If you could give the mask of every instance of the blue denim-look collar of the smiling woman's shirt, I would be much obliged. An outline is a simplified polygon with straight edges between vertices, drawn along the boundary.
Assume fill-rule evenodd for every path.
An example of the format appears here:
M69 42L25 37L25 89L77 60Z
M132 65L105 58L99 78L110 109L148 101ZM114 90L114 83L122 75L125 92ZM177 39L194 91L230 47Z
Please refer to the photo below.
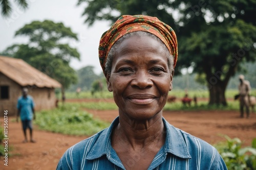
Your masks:
M109 159L111 156L114 156L111 155L111 152L114 151L111 146L111 133L113 128L117 126L118 123L119 117L115 118L109 128L101 132L91 151L89 151L86 159L93 160L103 155L106 155L106 157ZM163 123L166 128L164 152L173 154L180 158L191 158L185 139L180 130L170 125L164 118Z

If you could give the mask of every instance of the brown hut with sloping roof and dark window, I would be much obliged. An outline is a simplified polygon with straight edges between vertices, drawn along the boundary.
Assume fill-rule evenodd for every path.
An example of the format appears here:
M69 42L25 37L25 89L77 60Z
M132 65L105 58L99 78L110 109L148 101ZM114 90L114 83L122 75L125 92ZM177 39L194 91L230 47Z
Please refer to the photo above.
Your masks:
M35 102L35 110L55 107L55 88L61 84L22 59L0 56L0 116L17 114L17 99L27 87Z

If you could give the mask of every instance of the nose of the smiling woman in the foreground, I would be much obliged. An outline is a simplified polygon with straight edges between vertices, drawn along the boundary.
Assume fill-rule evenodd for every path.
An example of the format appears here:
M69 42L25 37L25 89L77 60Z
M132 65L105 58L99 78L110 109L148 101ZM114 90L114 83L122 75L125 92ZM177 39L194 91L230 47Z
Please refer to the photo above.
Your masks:
M140 89L152 87L153 82L150 78L150 73L148 71L137 71L131 85Z

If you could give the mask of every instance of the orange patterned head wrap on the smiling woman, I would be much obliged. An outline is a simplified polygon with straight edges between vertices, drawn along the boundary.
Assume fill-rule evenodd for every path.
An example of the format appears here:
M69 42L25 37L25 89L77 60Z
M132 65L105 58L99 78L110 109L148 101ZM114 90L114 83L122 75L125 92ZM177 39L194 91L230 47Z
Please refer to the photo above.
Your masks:
M149 32L157 36L174 56L174 67L178 58L178 44L174 30L157 17L145 15L123 15L101 36L99 42L99 61L103 72L109 51L123 35L135 31Z

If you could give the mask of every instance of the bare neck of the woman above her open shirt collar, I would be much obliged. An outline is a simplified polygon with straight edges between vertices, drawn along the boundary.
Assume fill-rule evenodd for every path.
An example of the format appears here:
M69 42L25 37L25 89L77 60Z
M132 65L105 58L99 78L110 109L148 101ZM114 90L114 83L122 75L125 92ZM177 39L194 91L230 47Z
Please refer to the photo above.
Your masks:
M133 149L144 148L149 145L163 145L165 130L162 114L151 119L135 120L126 115L119 116L119 124L115 128L113 138L116 142L130 145Z

